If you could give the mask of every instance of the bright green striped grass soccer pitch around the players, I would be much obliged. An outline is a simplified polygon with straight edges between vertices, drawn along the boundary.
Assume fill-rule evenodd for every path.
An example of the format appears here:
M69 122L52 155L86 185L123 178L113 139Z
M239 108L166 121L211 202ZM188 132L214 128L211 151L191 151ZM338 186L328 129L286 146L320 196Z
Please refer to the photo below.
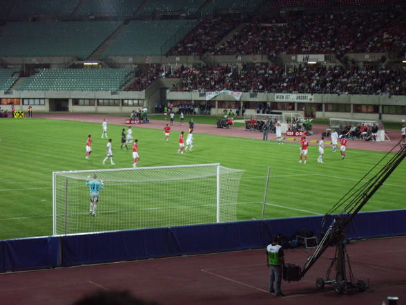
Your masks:
M101 139L101 124L36 118L0 119L0 239L52 234L52 172L131 167L131 150L120 150L122 128L124 126L108 126L108 136L113 139L115 149L115 165L109 161L102 165L107 141ZM93 139L90 160L85 159L88 134ZM339 151L333 153L327 147L325 163L318 163L318 147L312 145L307 164L299 164L299 145L289 142L278 145L274 141L197 132L193 151L181 155L177 154L177 131L171 132L169 142L165 141L161 129L133 128L133 136L139 140L139 167L220 163L224 167L244 169L238 192L240 221L261 218L268 167L270 178L264 218L313 216L329 211L386 155L348 149L345 160L341 160ZM385 163L384 160L371 174ZM402 163L361 212L404 208L405 169L406 164ZM369 178L366 177L365 182ZM178 196L182 198L183 194ZM99 213L103 210L103 201L101 193ZM88 212L88 201L83 208ZM101 217L97 221L102 221Z

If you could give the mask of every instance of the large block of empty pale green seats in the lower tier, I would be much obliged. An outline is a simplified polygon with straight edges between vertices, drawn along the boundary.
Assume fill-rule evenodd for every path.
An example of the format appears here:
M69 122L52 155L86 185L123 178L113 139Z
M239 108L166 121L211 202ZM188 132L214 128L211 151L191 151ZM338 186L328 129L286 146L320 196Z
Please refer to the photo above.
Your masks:
M19 86L19 91L117 91L131 69L40 69Z

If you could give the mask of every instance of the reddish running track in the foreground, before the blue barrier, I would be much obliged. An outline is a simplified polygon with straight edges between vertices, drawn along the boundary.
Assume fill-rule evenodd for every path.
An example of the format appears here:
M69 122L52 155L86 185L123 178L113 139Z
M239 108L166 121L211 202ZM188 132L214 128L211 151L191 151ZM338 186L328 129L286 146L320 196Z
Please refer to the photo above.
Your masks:
M300 281L282 282L283 298L267 292L269 269L260 249L3 273L0 300L3 305L68 305L97 290L118 289L162 305L380 305L388 296L406 304L406 237L347 246L356 281L369 281L365 293L337 295L333 286L316 288L334 251L329 248ZM285 250L287 263L303 266L308 253L305 248Z

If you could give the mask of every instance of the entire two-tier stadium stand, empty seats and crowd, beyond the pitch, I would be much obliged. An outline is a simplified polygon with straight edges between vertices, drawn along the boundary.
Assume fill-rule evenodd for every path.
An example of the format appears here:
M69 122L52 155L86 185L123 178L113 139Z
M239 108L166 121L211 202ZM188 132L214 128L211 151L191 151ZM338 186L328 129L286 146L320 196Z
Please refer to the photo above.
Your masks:
M131 91L144 91L161 78L159 84L168 92L226 89L319 97L398 95L404 100L406 18L401 0L6 2L0 6L0 68L16 68L21 79L6 76L8 96L3 98L14 91L125 90L126 96L133 94L151 106L155 101ZM320 60L311 66L305 60L309 55L320 55L313 57ZM132 73L131 79L117 76L125 82L117 82L116 76L106 80L103 72L87 74L88 80L79 83L70 80L65 70L83 80L77 68L85 62L106 71L145 73L139 78ZM75 69L65 69L69 67ZM177 80L164 80L169 77ZM244 98L242 103L251 95Z

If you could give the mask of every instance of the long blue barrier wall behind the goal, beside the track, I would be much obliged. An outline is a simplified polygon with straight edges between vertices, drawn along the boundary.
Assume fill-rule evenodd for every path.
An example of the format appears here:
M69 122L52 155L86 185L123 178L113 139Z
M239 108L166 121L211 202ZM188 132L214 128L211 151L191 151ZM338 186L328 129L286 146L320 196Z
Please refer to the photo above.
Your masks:
M406 234L406 210L363 212L346 228L349 239ZM0 272L264 248L282 233L318 232L322 216L189 225L0 241Z

